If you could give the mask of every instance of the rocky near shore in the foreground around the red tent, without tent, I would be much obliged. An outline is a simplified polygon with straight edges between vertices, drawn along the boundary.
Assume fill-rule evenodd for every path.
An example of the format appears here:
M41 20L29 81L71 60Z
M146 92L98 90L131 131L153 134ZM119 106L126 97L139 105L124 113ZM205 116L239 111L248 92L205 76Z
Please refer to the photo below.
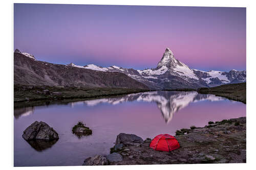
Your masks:
M89 157L83 165L246 163L246 117L181 129L175 137L180 148L161 152L149 147L149 138L121 133L110 155Z

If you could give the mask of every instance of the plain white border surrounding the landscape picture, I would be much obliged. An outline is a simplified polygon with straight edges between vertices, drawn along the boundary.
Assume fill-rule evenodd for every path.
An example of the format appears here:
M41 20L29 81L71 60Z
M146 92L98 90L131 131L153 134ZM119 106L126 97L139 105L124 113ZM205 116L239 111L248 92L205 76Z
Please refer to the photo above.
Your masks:
M255 109L253 108L255 96L255 39L256 8L254 1L205 1L205 0L183 0L183 1L2 1L1 11L1 166L2 168L13 168L13 3L42 3L42 4L101 4L101 5L157 5L157 6L204 6L204 7L246 7L247 8L247 163L241 164L186 164L186 165L133 165L133 166L53 166L53 167L20 167L27 168L48 168L48 169L130 169L130 168L177 168L177 169L250 169L255 160ZM80 159L80 158L78 158Z

